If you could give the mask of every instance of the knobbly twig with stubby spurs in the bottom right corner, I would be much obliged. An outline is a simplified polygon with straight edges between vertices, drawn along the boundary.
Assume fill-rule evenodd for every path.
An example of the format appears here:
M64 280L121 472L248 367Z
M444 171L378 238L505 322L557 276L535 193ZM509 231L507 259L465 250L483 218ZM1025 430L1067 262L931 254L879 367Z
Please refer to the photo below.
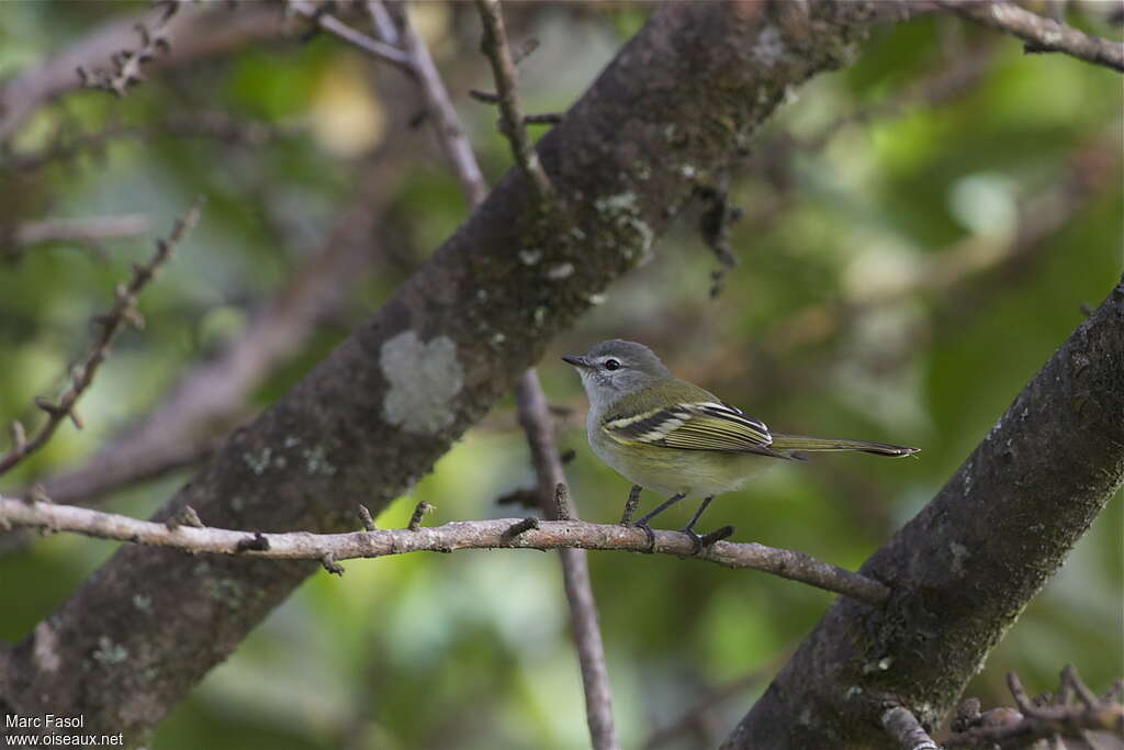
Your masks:
M1028 698L1014 672L1007 675L1007 686L1017 711L999 707L980 713L979 702L969 698L962 704L961 716L953 725L955 731L945 740L945 747L1023 748L1035 740L1080 738L1089 731L1124 737L1121 680L1097 696L1081 681L1077 670L1067 666L1061 671L1059 689L1049 702Z

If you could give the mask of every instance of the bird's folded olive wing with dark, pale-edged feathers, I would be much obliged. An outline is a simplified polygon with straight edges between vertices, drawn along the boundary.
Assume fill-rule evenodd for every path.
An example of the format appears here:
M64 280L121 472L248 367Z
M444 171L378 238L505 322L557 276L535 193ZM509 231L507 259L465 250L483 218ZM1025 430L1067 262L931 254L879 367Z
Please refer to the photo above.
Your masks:
M769 448L772 436L763 422L723 404L710 392L683 381L676 383L676 404L659 406L645 389L607 409L601 430L622 443L646 443L688 451L762 453L785 458ZM686 398L685 398L686 397Z

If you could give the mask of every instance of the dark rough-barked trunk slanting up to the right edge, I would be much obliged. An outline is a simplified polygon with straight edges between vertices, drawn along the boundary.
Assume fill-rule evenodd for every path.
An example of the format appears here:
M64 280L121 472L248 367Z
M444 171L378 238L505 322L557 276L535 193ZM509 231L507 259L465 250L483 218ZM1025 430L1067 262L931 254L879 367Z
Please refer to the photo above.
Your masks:
M863 564L887 605L836 602L723 747L894 748L887 702L932 730L1122 481L1124 279Z

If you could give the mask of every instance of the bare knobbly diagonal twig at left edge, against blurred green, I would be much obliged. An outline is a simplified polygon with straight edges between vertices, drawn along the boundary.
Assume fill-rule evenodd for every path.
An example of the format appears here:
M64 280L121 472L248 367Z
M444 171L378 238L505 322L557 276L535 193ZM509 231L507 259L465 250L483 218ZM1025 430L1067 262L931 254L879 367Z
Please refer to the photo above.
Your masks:
M133 266L133 279L128 284L118 284L115 291L114 307L97 318L99 333L93 342L93 346L85 359L71 371L71 382L57 403L47 399L36 399L36 406L46 412L47 419L39 427L35 435L28 437L21 444L12 445L11 450L0 457L0 475L7 472L13 466L22 461L33 452L42 448L54 434L58 425L71 419L75 426L81 427L81 421L74 410L78 399L82 396L90 383L98 367L109 355L109 347L117 338L126 323L132 323L139 327L143 318L136 310L136 296L144 289L145 284L152 280L156 270L171 256L172 250L183 240L184 235L196 225L199 213L202 208L201 199L197 199L188 211L175 222L172 233L167 240L156 242L156 253L143 265Z

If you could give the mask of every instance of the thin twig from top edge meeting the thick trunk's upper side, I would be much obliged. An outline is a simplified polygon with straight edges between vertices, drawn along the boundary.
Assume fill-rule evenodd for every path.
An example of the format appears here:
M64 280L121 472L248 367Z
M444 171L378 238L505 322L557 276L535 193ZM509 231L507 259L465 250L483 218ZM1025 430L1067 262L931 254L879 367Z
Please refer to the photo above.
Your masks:
M546 177L546 171L538 161L538 154L532 147L523 125L519 93L515 85L515 63L511 62L511 53L507 46L507 31L504 28L499 0L477 0L477 8L480 10L480 20L484 27L480 48L491 63L492 75L496 79L496 90L499 96L497 103L504 124L504 135L511 142L515 161L535 187L540 200L549 201L554 197L554 186Z

